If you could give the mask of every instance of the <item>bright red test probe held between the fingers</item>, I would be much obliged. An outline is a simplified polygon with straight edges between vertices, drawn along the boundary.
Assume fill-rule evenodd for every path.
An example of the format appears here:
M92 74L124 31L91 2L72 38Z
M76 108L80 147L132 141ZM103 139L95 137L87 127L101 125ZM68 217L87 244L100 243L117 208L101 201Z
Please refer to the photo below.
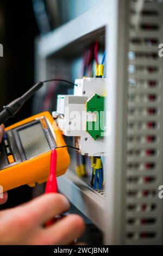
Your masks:
M57 177L57 150L53 149L51 153L51 165L49 170L49 176L46 182L45 194L46 193L58 193ZM46 227L52 225L54 220L50 220L46 223Z

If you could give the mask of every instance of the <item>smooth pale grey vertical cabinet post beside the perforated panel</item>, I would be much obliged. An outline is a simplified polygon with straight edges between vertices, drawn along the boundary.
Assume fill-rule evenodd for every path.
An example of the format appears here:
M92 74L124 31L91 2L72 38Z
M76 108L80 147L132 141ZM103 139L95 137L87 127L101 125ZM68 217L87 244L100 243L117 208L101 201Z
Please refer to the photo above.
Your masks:
M126 190L126 119L128 65L128 9L129 1L112 1L110 22L106 31L109 58L107 59L106 110L111 113L111 132L106 141L106 234L105 243L124 243L124 191ZM114 29L112 29L114 28Z

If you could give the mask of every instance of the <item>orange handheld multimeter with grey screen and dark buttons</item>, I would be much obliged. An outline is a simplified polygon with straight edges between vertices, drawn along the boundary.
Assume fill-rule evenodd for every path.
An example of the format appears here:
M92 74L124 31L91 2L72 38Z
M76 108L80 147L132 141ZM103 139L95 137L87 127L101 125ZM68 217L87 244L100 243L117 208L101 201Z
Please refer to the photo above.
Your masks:
M66 145L52 115L42 112L5 129L0 144L0 185L3 191L45 182L51 151ZM67 148L57 149L57 176L70 164Z

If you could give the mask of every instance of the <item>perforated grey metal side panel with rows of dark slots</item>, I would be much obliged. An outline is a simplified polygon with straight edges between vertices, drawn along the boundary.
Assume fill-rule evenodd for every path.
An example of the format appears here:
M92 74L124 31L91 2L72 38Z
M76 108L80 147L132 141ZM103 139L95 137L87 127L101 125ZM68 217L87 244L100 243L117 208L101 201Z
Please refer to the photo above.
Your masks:
M130 1L126 244L162 244L163 2ZM125 193L125 192L124 192Z

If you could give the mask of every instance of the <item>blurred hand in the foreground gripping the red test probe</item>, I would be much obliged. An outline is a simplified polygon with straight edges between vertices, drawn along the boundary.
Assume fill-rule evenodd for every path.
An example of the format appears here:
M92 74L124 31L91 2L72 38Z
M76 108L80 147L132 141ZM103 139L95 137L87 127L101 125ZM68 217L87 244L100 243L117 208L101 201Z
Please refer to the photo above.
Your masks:
M78 215L61 218L50 227L45 223L70 205L61 194L44 194L32 201L0 212L0 245L70 245L84 231Z

